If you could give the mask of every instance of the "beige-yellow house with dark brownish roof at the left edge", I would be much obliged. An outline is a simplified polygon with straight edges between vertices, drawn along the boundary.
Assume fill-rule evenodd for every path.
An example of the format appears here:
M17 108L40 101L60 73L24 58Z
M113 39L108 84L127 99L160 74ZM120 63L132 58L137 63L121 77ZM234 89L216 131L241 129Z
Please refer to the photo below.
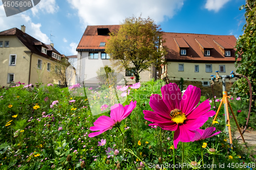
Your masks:
M68 58L61 55L53 44L47 45L21 30L12 28L0 32L0 86L10 86L15 82L36 85L39 83L59 84L53 78L58 64Z

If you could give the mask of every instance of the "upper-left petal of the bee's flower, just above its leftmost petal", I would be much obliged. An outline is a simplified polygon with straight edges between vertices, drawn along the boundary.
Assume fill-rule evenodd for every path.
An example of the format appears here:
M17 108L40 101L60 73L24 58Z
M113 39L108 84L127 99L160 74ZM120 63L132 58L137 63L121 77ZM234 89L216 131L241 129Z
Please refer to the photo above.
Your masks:
M159 94L152 94L150 97L150 107L158 114L161 114L166 118L170 117L169 114L171 110L168 109Z

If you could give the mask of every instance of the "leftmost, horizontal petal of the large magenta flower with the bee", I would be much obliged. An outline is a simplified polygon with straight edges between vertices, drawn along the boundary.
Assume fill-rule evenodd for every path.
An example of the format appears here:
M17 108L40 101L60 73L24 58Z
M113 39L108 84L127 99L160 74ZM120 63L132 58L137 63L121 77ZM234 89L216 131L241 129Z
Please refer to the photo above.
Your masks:
M144 113L144 119L154 122L154 123L169 123L172 122L172 120L169 118L167 119L166 117L163 117L161 114L149 111L149 110L143 110Z

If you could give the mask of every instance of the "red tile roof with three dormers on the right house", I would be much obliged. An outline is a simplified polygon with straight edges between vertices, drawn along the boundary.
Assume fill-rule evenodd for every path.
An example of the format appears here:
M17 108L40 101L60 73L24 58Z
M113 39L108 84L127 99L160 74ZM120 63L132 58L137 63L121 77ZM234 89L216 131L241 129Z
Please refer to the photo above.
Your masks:
M180 51L175 39L182 37L188 44L187 56L180 56ZM235 50L237 39L233 35L208 35L208 34L188 34L188 33L163 33L164 46L167 50L165 58L167 60L197 60L197 61L235 61ZM214 41L217 40L224 48L231 47L231 57L225 57L221 48ZM199 43L204 48L212 48L211 56L204 56Z

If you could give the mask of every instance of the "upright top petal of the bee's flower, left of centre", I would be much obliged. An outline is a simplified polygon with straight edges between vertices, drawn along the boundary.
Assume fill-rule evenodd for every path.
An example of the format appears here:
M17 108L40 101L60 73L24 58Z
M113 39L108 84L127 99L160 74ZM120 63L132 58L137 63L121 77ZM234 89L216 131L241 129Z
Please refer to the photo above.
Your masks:
M182 95L177 84L166 84L161 88L161 92L163 102L169 110L180 109Z

